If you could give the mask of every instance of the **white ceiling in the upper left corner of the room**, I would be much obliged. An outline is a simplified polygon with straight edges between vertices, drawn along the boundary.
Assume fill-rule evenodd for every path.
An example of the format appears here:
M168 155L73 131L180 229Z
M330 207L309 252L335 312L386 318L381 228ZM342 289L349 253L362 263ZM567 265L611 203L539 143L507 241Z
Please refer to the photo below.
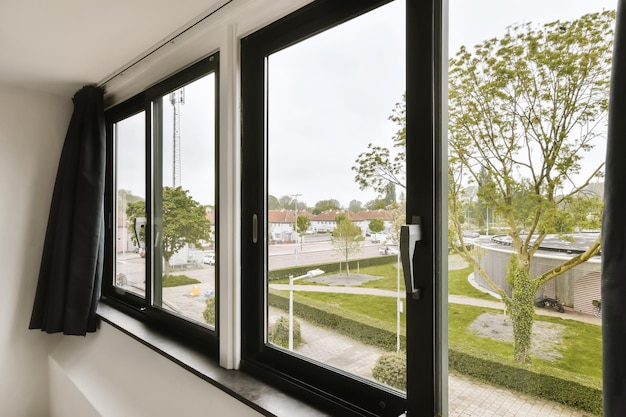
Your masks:
M0 0L0 83L72 96L223 0Z

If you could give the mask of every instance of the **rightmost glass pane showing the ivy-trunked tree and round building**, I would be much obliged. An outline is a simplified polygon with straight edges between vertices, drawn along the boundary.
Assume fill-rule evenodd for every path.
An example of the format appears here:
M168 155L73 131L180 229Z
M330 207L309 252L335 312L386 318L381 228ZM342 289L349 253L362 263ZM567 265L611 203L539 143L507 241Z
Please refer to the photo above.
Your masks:
M602 412L615 6L450 1L451 416Z

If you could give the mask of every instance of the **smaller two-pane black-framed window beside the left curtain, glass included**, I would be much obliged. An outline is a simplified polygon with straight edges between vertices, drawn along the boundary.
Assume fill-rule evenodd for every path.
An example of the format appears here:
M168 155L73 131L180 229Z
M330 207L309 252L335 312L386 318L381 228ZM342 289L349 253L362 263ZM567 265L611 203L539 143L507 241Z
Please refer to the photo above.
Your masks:
M214 54L106 114L110 262L103 294L216 346Z

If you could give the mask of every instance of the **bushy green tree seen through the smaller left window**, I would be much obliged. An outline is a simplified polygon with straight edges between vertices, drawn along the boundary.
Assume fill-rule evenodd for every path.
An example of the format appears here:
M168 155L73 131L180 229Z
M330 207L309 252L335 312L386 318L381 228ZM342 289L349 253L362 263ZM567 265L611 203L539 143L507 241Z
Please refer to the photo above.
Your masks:
M131 224L136 217L145 216L145 202L129 204L126 214ZM201 247L201 240L210 242L211 222L204 206L191 198L189 191L181 187L163 188L162 254L165 261L164 274L170 270L171 257L184 246Z

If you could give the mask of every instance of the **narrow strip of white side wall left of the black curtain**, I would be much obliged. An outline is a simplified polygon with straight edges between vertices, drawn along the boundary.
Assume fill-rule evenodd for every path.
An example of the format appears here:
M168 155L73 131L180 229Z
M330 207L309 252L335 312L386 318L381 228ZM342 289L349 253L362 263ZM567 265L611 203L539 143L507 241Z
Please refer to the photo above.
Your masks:
M66 97L0 84L0 415L48 414L47 352L28 330L52 187L72 111Z

